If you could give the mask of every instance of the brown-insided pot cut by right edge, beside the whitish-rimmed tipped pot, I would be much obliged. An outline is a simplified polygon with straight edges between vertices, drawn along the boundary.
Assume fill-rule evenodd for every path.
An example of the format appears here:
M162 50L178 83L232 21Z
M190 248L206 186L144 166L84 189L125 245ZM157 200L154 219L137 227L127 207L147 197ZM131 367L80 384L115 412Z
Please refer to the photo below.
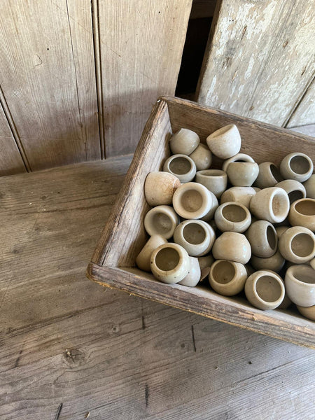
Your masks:
M290 206L288 221L293 226L315 230L315 199L301 198Z

